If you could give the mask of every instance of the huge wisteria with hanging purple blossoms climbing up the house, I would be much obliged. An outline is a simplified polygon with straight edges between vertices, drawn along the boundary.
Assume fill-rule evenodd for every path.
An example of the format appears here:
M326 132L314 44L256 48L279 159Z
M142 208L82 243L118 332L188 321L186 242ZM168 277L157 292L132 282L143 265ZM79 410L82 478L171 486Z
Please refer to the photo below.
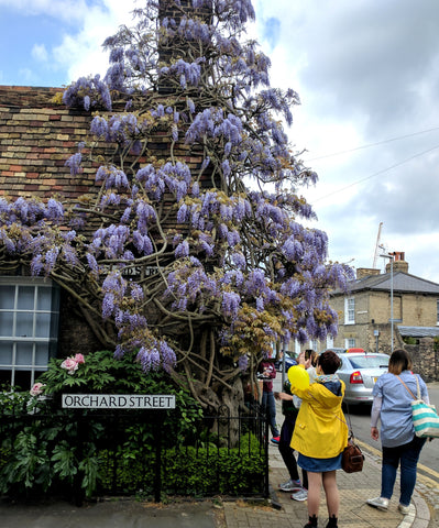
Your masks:
M72 177L95 166L99 193L68 207L2 198L0 241L34 275L78 285L89 320L105 321L102 344L136 351L145 372L184 373L211 405L249 356L336 334L329 293L352 272L328 263L326 234L300 223L315 215L298 189L317 175L282 125L298 95L272 88L268 57L243 41L251 1L149 0L134 14L106 40L103 79L64 95L95 112L66 165ZM73 374L79 356L62 366Z

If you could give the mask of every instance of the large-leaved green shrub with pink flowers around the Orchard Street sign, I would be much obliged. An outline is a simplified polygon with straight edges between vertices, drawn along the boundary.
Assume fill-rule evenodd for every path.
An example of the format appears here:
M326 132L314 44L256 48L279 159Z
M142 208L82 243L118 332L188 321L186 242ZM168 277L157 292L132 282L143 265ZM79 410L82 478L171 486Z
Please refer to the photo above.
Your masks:
M99 488L106 471L106 449L109 438L114 444L123 439L121 460L143 458L145 448L154 440L154 426L133 426L132 413L127 411L122 429L114 433L114 424L94 416L92 410L59 407L65 392L89 394L173 394L176 409L158 411L167 435L174 444L191 433L201 409L194 398L176 387L165 373L145 375L141 366L125 355L117 360L109 351L84 358L77 370L68 373L63 360L53 359L48 370L39 378L42 394L31 396L8 389L0 393L0 491L24 494L69 490L79 485L86 496ZM10 419L8 419L8 417ZM40 419L41 417L41 419ZM87 425L81 418L87 417ZM135 422L135 419L133 420Z

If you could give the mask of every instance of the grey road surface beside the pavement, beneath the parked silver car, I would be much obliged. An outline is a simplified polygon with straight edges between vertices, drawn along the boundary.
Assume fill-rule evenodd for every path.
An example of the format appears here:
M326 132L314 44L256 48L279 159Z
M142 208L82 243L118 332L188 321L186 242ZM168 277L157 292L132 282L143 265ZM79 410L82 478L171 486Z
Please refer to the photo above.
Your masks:
M427 386L430 404L435 404L436 408L439 409L439 383L430 383ZM369 406L350 406L349 410L355 438L376 450L381 450L380 440L376 442L371 439L371 408ZM427 442L424 447L420 452L418 471L439 485L439 439Z

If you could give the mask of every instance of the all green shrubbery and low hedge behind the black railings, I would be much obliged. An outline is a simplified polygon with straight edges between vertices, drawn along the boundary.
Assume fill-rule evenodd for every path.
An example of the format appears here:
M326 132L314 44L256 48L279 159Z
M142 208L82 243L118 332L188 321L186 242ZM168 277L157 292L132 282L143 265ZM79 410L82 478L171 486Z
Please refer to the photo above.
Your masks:
M91 497L111 491L117 482L118 493L151 495L157 441L166 494L240 495L261 490L264 453L253 435L242 435L241 449L224 448L224 439L200 427L202 413L196 402L164 373L145 375L132 356L114 360L108 351L84 360L73 374L62 367L62 360L52 360L39 380L44 384L40 396L0 393L1 493L62 492L72 497L80 488ZM64 392L174 394L176 408L127 410L113 417L61 408Z

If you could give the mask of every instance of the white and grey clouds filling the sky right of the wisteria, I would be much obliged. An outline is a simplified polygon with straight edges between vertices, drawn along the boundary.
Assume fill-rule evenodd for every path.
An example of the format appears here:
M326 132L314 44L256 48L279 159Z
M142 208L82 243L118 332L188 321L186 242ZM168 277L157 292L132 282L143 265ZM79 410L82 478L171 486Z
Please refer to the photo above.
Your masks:
M319 174L304 194L330 257L371 267L383 222L388 250L439 282L439 130L430 130L439 121L439 2L256 0L255 9L260 35L271 18L281 21L272 85L300 96L288 133ZM332 153L341 154L320 157Z

